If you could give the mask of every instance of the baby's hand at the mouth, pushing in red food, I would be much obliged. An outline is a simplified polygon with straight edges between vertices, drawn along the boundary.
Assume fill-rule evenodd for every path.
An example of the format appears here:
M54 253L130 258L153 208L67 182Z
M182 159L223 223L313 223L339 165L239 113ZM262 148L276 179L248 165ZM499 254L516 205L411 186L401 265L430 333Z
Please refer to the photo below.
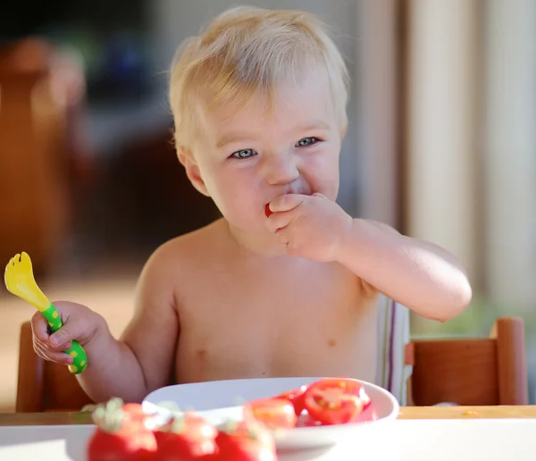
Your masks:
M336 260L352 228L352 217L322 194L287 194L270 203L268 229L281 238L287 253L312 261Z

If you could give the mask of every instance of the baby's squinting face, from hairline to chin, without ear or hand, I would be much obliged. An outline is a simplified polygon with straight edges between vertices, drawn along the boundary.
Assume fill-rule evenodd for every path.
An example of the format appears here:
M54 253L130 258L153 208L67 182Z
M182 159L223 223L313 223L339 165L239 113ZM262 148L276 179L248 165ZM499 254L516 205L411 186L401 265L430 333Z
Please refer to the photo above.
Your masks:
M238 113L205 113L195 159L208 193L230 224L264 232L264 208L283 194L339 191L341 127L327 77L275 95L272 113L258 96Z

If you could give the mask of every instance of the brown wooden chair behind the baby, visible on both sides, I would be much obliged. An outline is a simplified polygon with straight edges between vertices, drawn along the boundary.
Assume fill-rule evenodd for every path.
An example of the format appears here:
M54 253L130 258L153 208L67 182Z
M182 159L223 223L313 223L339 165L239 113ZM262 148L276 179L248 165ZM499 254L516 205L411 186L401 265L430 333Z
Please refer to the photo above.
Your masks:
M499 318L489 339L415 340L406 361L414 365L409 389L416 406L528 405L522 319ZM78 411L89 403L66 366L34 352L30 323L23 323L16 411Z

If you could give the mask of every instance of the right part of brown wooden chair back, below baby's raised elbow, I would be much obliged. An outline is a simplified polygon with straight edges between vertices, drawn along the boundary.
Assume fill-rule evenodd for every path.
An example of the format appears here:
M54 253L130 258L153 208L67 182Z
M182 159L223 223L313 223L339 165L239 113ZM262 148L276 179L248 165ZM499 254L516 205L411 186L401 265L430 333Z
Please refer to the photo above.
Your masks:
M501 317L482 339L425 339L409 345L416 406L528 405L524 324Z

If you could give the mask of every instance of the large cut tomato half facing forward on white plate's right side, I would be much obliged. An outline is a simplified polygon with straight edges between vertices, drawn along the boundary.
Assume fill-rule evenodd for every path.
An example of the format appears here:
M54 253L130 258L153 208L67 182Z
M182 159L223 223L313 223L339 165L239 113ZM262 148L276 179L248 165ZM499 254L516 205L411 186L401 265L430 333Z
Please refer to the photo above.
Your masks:
M322 424L348 423L369 404L363 386L345 378L316 381L305 395L307 413Z

